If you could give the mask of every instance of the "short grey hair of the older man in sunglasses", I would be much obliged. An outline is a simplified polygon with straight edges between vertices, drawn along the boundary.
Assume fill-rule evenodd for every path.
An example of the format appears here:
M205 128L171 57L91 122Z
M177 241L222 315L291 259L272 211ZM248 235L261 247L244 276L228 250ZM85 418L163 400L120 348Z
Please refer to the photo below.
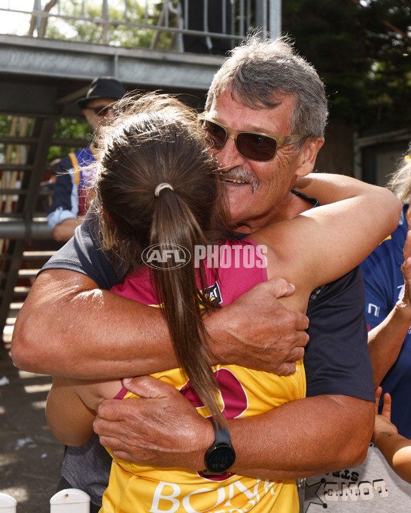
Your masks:
M328 116L324 84L286 36L263 40L253 34L234 48L214 75L206 109L226 90L251 109L273 109L279 105L276 93L290 94L295 98L292 133L324 137Z

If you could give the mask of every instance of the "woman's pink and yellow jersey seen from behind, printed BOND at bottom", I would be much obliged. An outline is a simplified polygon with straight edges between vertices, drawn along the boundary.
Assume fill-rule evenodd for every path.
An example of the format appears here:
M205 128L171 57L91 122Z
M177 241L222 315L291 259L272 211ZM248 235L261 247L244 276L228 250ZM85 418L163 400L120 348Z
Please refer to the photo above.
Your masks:
M249 239L210 246L214 258L208 259L210 265L205 267L207 287L202 293L224 306L265 281L266 261L262 249ZM160 306L151 285L149 267L127 276L123 284L111 290L126 298ZM226 419L260 415L306 394L302 360L297 362L292 376L276 376L238 365L216 365L212 369L219 387L219 405ZM204 406L183 369L170 369L152 376L175 386L201 415L210 416L210 410ZM116 395L117 399L132 397L136 395L124 387ZM221 512L233 508L242 511L247 510L251 502L255 503L254 511L269 512L273 508L281 510L283 501L288 512L298 511L294 480L269 482L230 472L211 476L185 469L140 466L112 457L114 464L110 485L103 495L103 512L116 507L131 512L137 501L147 511L171 508L176 513L214 511L215 508Z

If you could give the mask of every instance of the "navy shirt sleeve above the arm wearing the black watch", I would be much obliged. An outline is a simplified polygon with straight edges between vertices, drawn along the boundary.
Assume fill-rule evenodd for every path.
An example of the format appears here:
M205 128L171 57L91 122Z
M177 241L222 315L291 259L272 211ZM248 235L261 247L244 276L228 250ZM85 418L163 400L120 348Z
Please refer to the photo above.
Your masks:
M349 395L375 401L360 267L313 293L304 367L307 396Z

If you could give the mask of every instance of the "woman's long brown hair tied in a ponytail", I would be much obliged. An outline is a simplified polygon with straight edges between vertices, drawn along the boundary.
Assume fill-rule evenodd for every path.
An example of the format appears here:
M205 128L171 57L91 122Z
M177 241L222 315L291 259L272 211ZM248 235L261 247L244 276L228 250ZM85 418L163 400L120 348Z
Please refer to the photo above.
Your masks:
M221 183L196 114L170 96L148 94L122 101L118 116L99 142L97 208L103 248L120 257L126 272L142 265L153 244L183 246L192 259L172 259L151 269L179 365L212 415L225 423L217 402L203 314L219 304L206 294L203 266L195 267L195 246L221 236ZM155 189L161 183L158 196ZM102 213L101 213L102 211Z

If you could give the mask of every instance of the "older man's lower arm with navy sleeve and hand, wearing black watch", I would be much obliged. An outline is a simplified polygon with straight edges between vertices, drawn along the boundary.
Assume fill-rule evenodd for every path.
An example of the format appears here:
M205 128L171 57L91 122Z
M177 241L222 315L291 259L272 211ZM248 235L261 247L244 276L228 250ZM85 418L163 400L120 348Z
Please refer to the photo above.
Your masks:
M366 456L375 393L360 269L315 291L309 312L304 365L312 397L229 420L236 472L294 479L356 466ZM201 458L214 440L210 422L174 389L147 384L149 377L138 378L140 387L140 380L145 388L133 391L148 399L100 403L101 443L125 460L203 469Z

